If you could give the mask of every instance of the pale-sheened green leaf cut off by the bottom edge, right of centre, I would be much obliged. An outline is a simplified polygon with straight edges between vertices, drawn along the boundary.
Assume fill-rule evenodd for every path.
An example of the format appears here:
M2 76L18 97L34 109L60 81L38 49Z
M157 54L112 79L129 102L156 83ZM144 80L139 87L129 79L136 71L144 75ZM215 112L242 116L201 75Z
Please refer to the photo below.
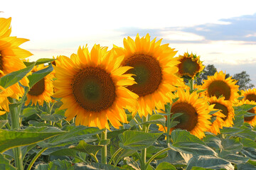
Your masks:
M225 159L213 157L213 156L200 156L192 157L186 169L191 169L193 166L198 166L206 169L227 169L234 170L234 166Z

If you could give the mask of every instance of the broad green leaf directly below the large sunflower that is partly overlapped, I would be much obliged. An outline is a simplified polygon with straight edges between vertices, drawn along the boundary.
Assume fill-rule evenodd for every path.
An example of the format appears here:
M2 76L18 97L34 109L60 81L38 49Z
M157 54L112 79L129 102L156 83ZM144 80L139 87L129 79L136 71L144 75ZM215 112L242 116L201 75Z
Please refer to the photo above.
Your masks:
M121 143L119 146L124 149L140 150L152 145L162 133L137 132L132 130L125 131L119 135Z

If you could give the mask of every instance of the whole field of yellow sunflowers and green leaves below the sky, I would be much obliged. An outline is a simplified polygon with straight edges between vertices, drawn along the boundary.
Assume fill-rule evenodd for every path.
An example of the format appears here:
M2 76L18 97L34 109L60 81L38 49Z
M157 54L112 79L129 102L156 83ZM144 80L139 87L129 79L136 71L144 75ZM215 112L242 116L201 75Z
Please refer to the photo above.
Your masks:
M0 169L256 169L256 89L161 40L32 54L0 18ZM91 50L89 50L91 49Z

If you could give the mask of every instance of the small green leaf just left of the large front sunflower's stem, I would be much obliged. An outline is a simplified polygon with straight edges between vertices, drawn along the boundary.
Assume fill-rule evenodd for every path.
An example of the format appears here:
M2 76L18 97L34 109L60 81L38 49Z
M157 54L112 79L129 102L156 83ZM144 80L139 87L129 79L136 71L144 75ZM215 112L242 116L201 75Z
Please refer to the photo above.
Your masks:
M79 152L85 152L87 154L94 154L96 155L97 152L102 149L102 145L90 145L87 144L85 141L81 140L76 147L70 147L71 149L78 150Z

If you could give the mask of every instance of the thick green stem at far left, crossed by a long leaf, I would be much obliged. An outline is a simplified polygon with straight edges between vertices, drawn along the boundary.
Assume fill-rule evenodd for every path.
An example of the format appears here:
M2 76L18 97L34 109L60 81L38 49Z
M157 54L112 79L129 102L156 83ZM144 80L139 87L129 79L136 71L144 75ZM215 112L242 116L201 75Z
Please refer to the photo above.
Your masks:
M14 98L9 98L9 101L11 103L16 103L16 100ZM19 130L20 129L20 113L18 112L18 107L10 108L11 113L11 129L13 130ZM21 153L21 147L16 147L14 150L14 160L15 160L15 166L18 170L23 170L23 160L22 160L22 153Z

